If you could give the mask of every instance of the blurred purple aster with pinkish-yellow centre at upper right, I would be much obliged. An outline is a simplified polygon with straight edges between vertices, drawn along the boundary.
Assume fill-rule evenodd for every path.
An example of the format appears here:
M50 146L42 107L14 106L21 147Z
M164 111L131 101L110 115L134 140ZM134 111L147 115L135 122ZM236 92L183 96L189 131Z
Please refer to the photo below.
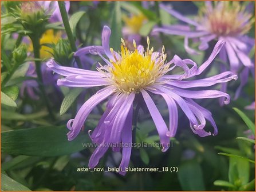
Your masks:
M223 2L219 1L212 6L211 2L206 2L206 6L202 10L201 16L192 20L184 17L175 10L168 9L166 5L160 5L172 16L180 19L186 25L173 25L156 28L154 31L160 31L166 34L183 35L184 47L190 54L198 54L198 52L188 46L189 38L199 38L199 50L208 49L208 43L216 39L225 41L226 44L220 50L219 57L223 62L229 59L230 70L237 73L242 66L253 68L254 63L249 58L249 53L255 44L255 40L246 35L253 23L251 18L251 10L249 6L245 7L239 2ZM220 67L220 72L226 71L223 65ZM249 69L243 69L240 74L241 85L239 86L235 99L239 97L241 89L246 85L249 75ZM226 83L222 85L222 91L226 92Z

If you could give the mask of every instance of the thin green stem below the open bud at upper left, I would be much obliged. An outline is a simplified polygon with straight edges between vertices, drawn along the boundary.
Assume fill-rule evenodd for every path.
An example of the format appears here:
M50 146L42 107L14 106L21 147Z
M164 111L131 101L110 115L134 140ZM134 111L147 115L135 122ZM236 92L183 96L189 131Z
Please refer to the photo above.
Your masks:
M35 35L35 36L31 37L31 41L33 44L34 58L36 58L35 63L36 63L36 72L37 72L39 89L42 93L42 97L45 99L46 107L49 111L50 118L52 118L54 120L55 119L54 114L50 107L50 103L48 101L48 97L46 95L46 91L45 91L45 87L44 87L44 83L43 83L43 79L42 79L41 61L39 60L40 59L40 37L37 37L37 35Z

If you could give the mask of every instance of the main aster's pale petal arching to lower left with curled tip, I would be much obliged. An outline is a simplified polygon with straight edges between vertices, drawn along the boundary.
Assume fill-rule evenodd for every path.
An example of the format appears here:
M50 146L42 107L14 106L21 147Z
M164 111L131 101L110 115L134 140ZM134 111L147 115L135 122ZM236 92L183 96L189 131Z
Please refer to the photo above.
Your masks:
M67 123L68 129L70 130L68 135L68 140L72 141L74 138L77 137L78 133L80 132L82 125L84 124L86 118L93 110L93 108L99 104L101 101L106 99L109 95L113 93L113 87L105 87L101 89L92 97L90 97L84 105L80 108L77 112L76 117L74 119L70 119ZM71 125L72 123L72 125Z

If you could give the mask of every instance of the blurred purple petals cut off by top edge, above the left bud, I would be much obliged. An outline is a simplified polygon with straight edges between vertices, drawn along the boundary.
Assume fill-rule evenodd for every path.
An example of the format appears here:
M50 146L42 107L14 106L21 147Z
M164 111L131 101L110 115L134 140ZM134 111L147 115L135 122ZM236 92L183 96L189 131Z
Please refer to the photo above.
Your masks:
M58 7L58 1L38 1L42 7L44 7L45 10L50 10L53 11L49 21L54 23L54 22L62 22L61 18L61 12L60 8ZM70 2L65 1L65 7L66 11L69 11L70 8Z

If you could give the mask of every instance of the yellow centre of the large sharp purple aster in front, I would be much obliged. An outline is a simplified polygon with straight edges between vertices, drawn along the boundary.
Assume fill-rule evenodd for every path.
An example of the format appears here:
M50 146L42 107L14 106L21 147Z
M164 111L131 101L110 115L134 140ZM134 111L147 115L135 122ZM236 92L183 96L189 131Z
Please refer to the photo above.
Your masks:
M117 91L123 93L138 92L140 89L152 85L159 77L166 74L169 70L169 63L166 61L164 46L162 53L153 52L153 47L149 50L149 38L147 38L148 47L143 53L138 50L135 41L133 41L134 50L128 50L123 39L121 39L121 52L116 61L110 61L113 66L109 66L108 73L111 74L108 80L117 87ZM113 53L113 52L112 52Z

